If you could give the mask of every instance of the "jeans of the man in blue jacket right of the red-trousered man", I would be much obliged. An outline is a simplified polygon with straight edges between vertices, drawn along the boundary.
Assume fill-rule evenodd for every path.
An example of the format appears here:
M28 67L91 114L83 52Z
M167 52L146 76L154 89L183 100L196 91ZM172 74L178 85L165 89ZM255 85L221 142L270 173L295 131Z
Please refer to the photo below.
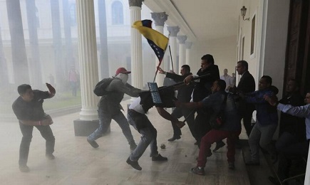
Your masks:
M276 149L274 144L272 144L272 137L277 129L277 125L259 125L257 122L251 134L249 134L249 147L251 149L252 161L259 162L259 145L267 150L269 154L275 154Z

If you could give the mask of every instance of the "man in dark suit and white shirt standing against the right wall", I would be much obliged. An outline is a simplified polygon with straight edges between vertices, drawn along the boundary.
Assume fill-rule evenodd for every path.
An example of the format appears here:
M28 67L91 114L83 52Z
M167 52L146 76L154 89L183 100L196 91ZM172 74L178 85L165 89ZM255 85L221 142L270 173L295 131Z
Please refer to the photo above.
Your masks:
M238 75L241 75L238 86L234 88L229 88L229 92L234 94L242 93L246 95L247 93L252 93L255 90L255 80L251 73L249 73L249 64L245 60L240 60L237 62L237 72ZM252 131L252 114L254 111L254 105L247 103L244 100L239 100L238 112L240 118L243 119L243 125L247 132L247 135Z

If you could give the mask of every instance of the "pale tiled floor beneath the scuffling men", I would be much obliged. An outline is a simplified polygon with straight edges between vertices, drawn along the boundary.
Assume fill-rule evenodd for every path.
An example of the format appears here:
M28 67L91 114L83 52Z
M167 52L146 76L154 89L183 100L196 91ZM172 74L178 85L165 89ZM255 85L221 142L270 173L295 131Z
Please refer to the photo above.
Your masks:
M124 108L128 102L122 102ZM33 129L28 162L31 171L21 173L18 168L19 124L17 121L1 122L0 184L249 184L241 150L236 151L234 171L228 169L227 149L222 147L208 158L205 176L191 174L190 168L196 164L198 149L188 127L182 128L181 139L167 142L172 136L170 122L160 117L155 108L148 112L148 117L157 129L157 144L166 145L165 149L158 147L168 161L152 162L147 149L139 160L142 171L125 162L130 154L129 145L114 121L110 134L97 140L98 149L93 149L86 142L86 137L74 136L73 120L78 119L76 112L53 118L55 160L46 159L45 141L38 130ZM138 143L140 134L130 128Z

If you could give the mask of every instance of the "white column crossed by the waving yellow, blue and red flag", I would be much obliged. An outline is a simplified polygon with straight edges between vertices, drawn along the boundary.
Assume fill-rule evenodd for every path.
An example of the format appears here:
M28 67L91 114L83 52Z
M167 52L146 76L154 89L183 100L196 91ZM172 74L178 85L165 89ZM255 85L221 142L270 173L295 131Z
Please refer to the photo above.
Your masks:
M155 21L155 30L160 33L164 33L164 25L165 25L165 21L167 21L168 15L165 12L150 13L150 14L152 15L152 18ZM162 68L162 70L168 70L164 67L165 66L164 63L165 63L165 57L162 58L162 64L160 65L160 68ZM159 65L159 60L157 57L155 57L155 71L157 70L156 67L158 65ZM158 87L161 87L164 84L164 78L165 78L165 75L157 73L156 83Z

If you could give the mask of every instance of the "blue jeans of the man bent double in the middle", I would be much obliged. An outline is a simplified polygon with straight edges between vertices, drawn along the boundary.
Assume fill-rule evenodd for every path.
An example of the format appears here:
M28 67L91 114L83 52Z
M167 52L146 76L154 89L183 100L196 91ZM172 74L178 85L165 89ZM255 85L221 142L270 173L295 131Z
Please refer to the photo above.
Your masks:
M145 149L148 148L148 145L150 145L150 157L157 156L157 130L153 127L150 120L148 120L148 117L138 112L128 110L127 119L129 124L135 127L135 129L137 129L137 124L143 125L143 127L137 129L142 136L138 147L130 154L130 160L138 162L138 159L145 152Z

